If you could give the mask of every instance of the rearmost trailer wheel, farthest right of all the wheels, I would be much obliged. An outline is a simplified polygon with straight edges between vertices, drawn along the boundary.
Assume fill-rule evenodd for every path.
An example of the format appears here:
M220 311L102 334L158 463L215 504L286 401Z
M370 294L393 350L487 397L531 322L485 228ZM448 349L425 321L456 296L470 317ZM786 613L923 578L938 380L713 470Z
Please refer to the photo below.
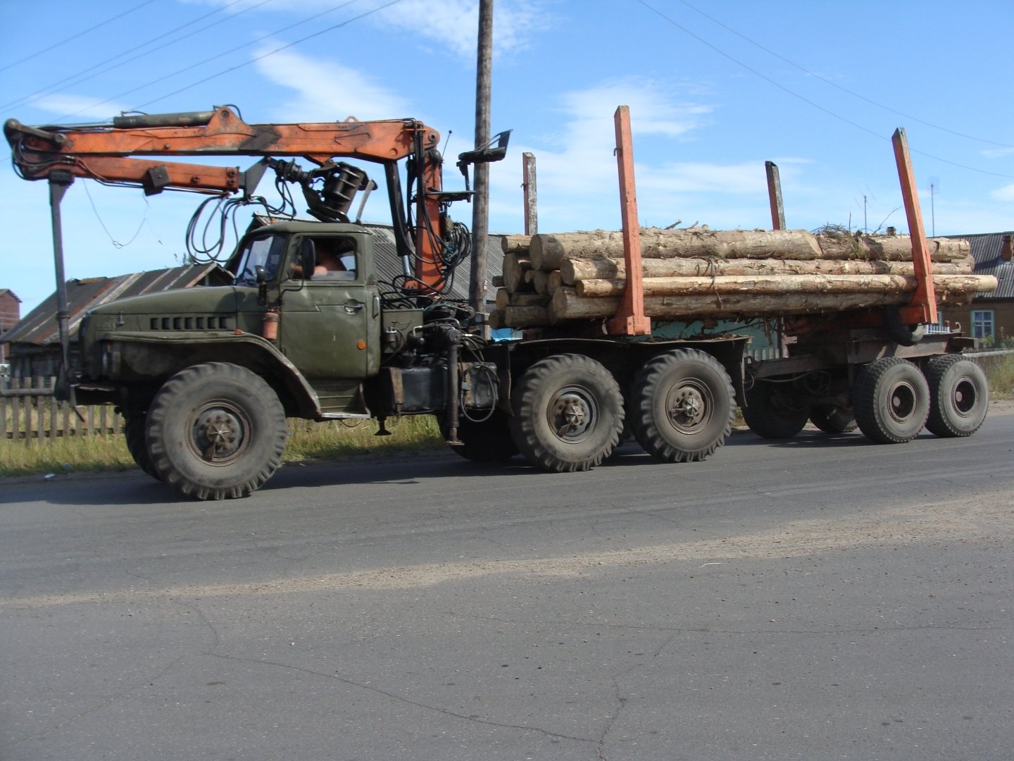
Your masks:
M990 387L986 374L960 354L934 357L926 365L930 416L926 427L938 436L970 436L986 420Z

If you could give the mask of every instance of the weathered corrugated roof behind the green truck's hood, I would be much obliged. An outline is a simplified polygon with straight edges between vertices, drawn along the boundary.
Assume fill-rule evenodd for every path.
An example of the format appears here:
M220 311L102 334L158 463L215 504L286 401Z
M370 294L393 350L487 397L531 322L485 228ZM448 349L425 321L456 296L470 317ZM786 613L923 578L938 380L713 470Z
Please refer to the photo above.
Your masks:
M216 264L171 267L166 270L138 272L118 277L89 277L67 281L67 310L70 314L70 335L77 335L77 328L84 313L98 304L127 296L155 293L173 288L189 288L209 278L214 284L230 282L232 277ZM57 294L50 296L33 308L4 334L4 341L12 344L44 346L60 340L56 321Z

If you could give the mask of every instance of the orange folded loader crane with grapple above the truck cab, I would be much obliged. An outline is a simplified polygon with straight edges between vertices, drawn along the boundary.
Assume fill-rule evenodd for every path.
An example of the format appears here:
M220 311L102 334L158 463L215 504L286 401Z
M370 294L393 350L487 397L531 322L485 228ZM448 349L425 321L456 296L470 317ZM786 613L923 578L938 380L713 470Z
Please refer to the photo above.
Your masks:
M59 178L66 183L69 175L71 180L137 184L149 194L165 188L248 194L270 165L280 179L300 184L310 213L325 221L345 221L352 196L366 182L363 172L335 159L382 164L399 253L406 262L414 261L413 276L427 289L440 290L445 279L446 207L470 195L443 192L440 135L412 119L246 124L232 109L219 107L187 114L123 116L112 124L74 127L28 127L9 119L4 134L15 168L26 180ZM243 172L234 166L149 158L154 156L265 158L256 170ZM410 156L403 200L396 164ZM279 157L303 158L317 168L303 171ZM414 224L406 216L406 201L415 207Z

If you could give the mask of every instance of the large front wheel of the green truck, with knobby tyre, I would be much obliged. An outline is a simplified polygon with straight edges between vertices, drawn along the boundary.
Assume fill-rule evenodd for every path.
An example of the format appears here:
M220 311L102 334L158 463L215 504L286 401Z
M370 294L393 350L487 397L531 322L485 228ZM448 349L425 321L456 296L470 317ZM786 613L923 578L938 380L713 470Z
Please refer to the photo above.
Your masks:
M162 481L197 499L242 497L282 464L285 411L260 375L206 362L170 377L145 431Z

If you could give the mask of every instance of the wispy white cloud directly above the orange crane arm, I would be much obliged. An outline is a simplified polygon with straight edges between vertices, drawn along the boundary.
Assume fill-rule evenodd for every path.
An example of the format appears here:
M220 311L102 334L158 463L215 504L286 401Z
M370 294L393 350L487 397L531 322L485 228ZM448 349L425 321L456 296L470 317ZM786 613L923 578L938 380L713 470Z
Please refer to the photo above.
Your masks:
M257 55L273 50L266 46ZM397 119L416 116L411 102L378 83L368 74L334 61L321 62L292 50L257 62L261 74L275 84L296 91L296 96L278 103L279 122Z

